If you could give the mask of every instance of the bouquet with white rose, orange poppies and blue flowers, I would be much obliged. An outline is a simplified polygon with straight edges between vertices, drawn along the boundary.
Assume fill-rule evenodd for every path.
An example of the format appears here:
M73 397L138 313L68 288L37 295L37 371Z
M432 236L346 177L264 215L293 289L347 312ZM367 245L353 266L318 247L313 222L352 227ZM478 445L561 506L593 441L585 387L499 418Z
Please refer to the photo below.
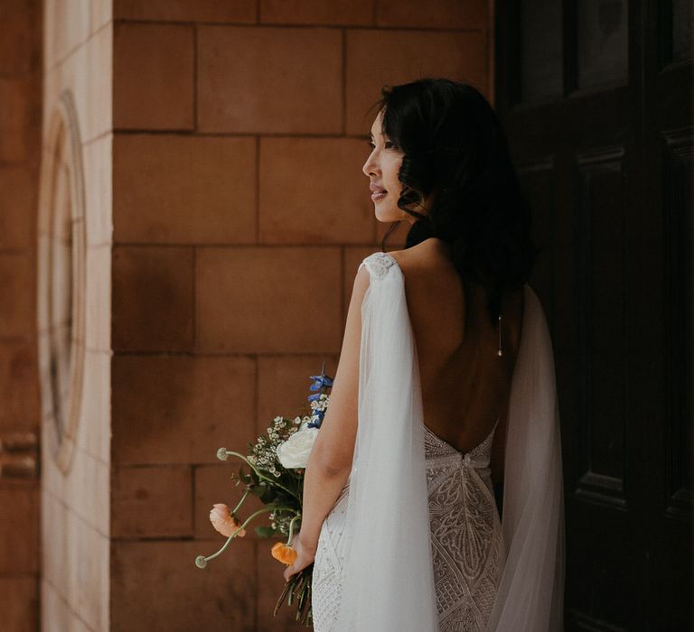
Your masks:
M226 448L217 451L217 458L220 460L236 457L242 461L238 473L232 473L231 479L236 481L237 487L243 485L244 491L233 509L221 503L212 507L212 526L220 534L227 536L227 542L217 553L207 557L198 555L195 564L199 568L205 568L207 562L223 553L235 537L243 537L249 523L263 514L268 515L269 525L256 526L256 533L263 538L286 535L286 543L277 542L270 553L287 565L295 561L296 552L292 547L292 539L301 526L305 467L328 408L330 395L326 391L333 386L333 379L325 375L325 363L321 368L321 375L310 376L310 379L313 380L310 389L318 391L307 398L310 414L293 419L275 417L272 425L267 428L267 434L259 436L255 443L249 443L247 455ZM265 507L242 520L239 518L239 511L249 494L257 496ZM313 564L307 566L286 582L277 599L274 615L277 615L277 609L285 599L290 606L296 601L295 619L305 626L311 625L313 567Z

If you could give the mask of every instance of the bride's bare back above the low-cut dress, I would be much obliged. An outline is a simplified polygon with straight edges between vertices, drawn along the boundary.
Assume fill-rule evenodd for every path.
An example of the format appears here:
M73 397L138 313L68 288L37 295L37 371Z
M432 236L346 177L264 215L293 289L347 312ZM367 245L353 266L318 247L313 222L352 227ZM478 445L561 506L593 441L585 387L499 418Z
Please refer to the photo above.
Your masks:
M521 343L523 292L502 298L499 330L489 321L481 285L463 282L449 246L430 238L389 253L405 275L405 291L427 427L456 450L482 442L497 418L492 478L501 479L511 376Z

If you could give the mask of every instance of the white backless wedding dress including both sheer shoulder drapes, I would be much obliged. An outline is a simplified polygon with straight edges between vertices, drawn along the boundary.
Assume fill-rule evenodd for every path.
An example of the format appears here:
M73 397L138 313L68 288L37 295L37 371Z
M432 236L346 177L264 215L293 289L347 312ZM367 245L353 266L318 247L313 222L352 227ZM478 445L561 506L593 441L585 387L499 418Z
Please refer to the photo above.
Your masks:
M402 271L382 252L361 265L370 287L359 425L350 479L315 555L315 632L561 630L558 404L537 296L526 283L500 522L489 469L496 426L465 454L427 428Z

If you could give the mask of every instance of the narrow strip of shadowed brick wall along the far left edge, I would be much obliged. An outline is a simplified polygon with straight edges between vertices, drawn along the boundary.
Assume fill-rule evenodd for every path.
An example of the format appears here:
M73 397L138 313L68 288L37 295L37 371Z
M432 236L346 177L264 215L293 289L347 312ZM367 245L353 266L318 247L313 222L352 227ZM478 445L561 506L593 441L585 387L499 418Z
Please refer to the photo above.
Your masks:
M35 270L41 155L41 3L0 6L0 627L39 604Z

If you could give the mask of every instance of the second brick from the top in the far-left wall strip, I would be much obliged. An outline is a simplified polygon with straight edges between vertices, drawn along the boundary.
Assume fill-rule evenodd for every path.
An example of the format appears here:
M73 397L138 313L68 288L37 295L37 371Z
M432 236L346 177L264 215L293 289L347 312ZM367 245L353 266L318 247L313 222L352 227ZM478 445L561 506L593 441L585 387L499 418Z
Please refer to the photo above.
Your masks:
M31 79L0 77L0 161L20 163L31 158L40 129L38 95Z

